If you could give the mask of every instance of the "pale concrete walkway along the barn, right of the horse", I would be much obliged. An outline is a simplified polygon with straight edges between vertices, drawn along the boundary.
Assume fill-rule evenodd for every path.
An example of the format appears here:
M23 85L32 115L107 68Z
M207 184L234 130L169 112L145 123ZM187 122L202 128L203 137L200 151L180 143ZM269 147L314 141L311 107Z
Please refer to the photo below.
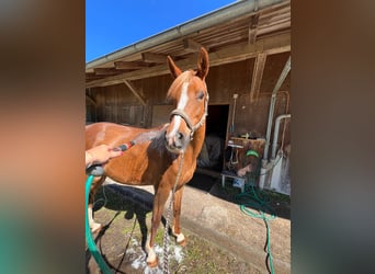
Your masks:
M107 179L105 184L116 183ZM154 194L152 186L137 189ZM184 229L190 230L253 265L257 273L269 273L265 252L266 225L261 218L246 215L239 205L234 203L239 192L239 189L231 187L229 181L226 187L221 187L219 178L194 175L192 182L186 185L182 199L182 232ZM291 273L289 205L279 201L272 206L279 215L268 222L274 273ZM258 213L249 208L254 214ZM189 238L186 241L189 244Z

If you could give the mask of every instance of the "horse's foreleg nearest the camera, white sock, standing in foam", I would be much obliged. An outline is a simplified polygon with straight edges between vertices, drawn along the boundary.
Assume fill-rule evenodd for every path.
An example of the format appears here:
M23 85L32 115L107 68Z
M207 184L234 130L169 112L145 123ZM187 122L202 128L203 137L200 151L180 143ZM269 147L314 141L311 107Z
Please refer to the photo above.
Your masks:
M164 205L168 198L170 190L159 187L155 192L154 207L152 207L152 219L151 219L151 231L147 237L146 251L147 251L147 265L155 267L158 265L158 258L154 250L155 238L160 225L161 216L164 210Z

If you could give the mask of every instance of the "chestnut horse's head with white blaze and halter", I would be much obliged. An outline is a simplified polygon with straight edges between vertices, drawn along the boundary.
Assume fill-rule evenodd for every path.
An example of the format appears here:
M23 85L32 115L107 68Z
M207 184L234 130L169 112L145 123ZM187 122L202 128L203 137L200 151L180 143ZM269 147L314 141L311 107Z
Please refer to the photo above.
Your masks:
M181 71L168 56L168 65L174 78L167 98L174 101L166 130L167 149L173 153L185 151L196 129L205 122L208 92L205 78L208 73L208 53L201 48L197 69Z

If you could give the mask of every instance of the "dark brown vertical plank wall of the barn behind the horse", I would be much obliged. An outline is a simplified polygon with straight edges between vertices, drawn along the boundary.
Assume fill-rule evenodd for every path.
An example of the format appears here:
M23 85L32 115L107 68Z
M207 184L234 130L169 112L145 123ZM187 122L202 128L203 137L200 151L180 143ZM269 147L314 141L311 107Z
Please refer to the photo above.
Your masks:
M265 136L271 92L288 56L289 53L266 56L260 91L253 102L250 102L250 90L254 58L209 69L206 79L209 104L229 104L228 125L231 122L234 111L232 96L235 93L238 94L235 133L228 133L227 138L230 136L237 137L250 132L255 133L258 137ZM170 105L166 101L166 94L171 82L172 77L169 75L133 81L134 87L146 99L146 105L143 105L125 84L92 88L89 93L95 100L96 106L88 105L87 111L95 111L96 122L109 121L137 127L151 127L152 110L162 110L162 105ZM282 92L277 95L274 118L281 114L289 113L289 110L287 110L289 84L291 73L281 87ZM154 107L156 105L159 107ZM157 113L156 117L158 119L160 119L159 116ZM93 117L93 115L89 113L87 117ZM220 122L218 121L218 123ZM286 124L285 144L288 144L289 123ZM281 124L280 138L282 132L283 123Z

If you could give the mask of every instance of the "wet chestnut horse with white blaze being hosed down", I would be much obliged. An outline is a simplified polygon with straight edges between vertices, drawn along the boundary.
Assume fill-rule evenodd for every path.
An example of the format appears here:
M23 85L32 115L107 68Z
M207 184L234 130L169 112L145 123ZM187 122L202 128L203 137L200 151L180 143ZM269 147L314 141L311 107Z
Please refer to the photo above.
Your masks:
M151 267L158 264L154 251L155 237L169 193L173 187L175 192L172 233L179 244L185 244L185 238L180 229L181 198L184 184L193 176L196 158L203 146L208 105L205 83L209 66L207 52L204 48L201 49L196 70L182 72L169 56L167 59L174 78L167 94L175 107L170 114L170 123L150 129L113 123L95 123L86 127L86 149L101 144L116 147L130 140L139 140L139 136L151 136L151 139L138 141L123 156L112 159L104 167L105 175L118 183L154 185L151 229L145 247L147 264ZM179 181L177 182L178 174ZM92 202L105 175L95 179L90 193L88 214L92 231L100 229L100 225L92 218Z

